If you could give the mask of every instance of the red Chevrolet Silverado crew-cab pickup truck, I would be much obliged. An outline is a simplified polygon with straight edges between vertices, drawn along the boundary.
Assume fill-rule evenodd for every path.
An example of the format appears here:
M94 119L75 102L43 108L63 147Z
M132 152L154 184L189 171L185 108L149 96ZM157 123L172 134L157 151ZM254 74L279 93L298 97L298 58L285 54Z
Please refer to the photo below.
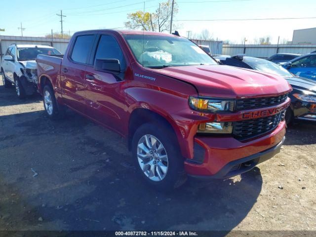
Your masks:
M36 61L47 116L70 108L118 132L157 188L249 171L285 139L283 78L219 65L177 35L83 31L63 57Z

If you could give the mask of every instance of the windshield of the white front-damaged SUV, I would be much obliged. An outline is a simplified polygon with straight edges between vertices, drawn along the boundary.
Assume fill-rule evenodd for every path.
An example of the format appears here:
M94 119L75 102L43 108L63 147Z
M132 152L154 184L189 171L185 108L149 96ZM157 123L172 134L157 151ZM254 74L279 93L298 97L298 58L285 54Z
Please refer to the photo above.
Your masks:
M56 55L61 54L56 48L39 48L39 47L25 47L18 48L18 61L35 60L39 54Z

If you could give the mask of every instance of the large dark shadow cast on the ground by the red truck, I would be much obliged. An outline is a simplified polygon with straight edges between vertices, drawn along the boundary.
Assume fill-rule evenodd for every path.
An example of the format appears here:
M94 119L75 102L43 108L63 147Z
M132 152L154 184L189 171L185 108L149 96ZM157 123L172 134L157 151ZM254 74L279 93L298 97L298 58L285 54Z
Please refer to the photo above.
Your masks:
M21 116L0 117L12 120L12 136L21 134L4 137L0 147L1 213L10 213L2 230L212 230L225 236L261 192L258 167L234 180L190 181L158 192L139 179L116 133L72 112L59 121L43 119L43 112Z

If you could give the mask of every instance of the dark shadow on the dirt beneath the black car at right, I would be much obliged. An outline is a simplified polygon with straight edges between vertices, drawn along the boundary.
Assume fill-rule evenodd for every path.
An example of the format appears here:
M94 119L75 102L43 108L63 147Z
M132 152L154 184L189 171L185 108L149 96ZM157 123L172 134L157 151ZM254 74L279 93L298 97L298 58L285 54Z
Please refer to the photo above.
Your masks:
M284 145L316 144L316 122L295 120L286 129Z

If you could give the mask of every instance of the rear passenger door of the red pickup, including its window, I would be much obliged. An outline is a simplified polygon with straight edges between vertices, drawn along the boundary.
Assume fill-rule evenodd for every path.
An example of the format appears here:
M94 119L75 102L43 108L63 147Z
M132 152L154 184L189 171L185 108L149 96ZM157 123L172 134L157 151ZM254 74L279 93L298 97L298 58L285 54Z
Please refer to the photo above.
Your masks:
M85 114L84 75L96 34L79 34L61 65L62 97L72 109Z

